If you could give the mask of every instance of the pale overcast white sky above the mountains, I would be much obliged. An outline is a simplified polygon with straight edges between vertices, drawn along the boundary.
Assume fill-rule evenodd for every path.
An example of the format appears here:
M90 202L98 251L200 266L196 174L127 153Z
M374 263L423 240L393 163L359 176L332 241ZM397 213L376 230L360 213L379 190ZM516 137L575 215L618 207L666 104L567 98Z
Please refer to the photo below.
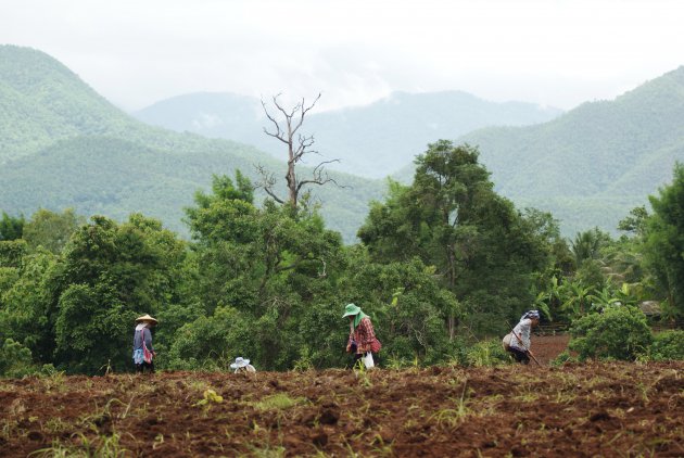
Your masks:
M681 0L0 0L0 43L137 110L197 91L311 98L464 90L562 109L684 64Z

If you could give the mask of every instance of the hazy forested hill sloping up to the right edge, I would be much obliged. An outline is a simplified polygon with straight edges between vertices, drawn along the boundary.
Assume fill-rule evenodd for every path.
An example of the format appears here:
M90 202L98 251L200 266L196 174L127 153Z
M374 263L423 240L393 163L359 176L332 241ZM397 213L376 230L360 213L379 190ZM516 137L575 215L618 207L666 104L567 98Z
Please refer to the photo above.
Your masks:
M684 67L548 123L484 128L457 142L478 145L496 190L519 207L553 212L566 236L615 232L684 161ZM397 177L410 180L413 166Z

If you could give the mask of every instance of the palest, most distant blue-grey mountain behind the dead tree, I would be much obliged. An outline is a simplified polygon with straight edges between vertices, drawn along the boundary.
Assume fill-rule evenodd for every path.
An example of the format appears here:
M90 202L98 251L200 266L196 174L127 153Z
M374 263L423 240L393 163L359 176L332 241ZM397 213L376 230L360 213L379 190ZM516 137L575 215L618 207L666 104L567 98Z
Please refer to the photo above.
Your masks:
M322 96L325 98L325 94ZM267 102L269 100L266 100ZM304 126L338 170L383 178L411 162L438 139L454 139L493 125L546 122L559 110L531 103L494 103L466 92L394 92L365 106L330 112L313 110ZM229 138L278 154L264 136L268 127L257 99L230 93L192 93L157 102L135 113L139 119L178 131Z

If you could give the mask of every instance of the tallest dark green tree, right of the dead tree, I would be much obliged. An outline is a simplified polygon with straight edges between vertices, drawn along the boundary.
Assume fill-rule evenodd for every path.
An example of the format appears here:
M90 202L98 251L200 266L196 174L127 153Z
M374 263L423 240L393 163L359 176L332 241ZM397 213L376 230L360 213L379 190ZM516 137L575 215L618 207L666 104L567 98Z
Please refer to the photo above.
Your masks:
M393 183L358 237L377 262L418 256L470 314L466 325L501 332L534 301L532 272L548 263L540 233L493 191L479 152L440 140L416 158L414 183ZM446 317L449 338L456 316Z

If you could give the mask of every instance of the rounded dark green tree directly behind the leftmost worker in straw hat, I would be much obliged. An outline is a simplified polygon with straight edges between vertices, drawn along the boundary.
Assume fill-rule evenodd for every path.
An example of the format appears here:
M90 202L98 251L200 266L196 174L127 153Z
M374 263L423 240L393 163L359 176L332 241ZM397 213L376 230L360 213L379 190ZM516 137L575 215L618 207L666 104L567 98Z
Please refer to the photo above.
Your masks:
M90 373L130 367L134 320L177 302L183 258L185 243L142 215L123 225L94 216L79 227L56 279L56 361Z

